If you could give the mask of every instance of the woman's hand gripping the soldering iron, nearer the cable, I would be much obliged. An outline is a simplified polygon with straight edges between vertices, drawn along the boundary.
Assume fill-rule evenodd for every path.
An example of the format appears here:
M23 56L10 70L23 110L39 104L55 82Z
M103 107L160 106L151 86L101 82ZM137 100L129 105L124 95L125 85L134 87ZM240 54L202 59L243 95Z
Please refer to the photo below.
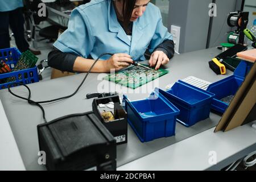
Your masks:
M130 55L127 55L127 53L115 53L108 60L106 60L106 63L109 71L110 69L115 69L115 71L118 71L120 69L129 67L129 65L133 63L133 60L131 59Z

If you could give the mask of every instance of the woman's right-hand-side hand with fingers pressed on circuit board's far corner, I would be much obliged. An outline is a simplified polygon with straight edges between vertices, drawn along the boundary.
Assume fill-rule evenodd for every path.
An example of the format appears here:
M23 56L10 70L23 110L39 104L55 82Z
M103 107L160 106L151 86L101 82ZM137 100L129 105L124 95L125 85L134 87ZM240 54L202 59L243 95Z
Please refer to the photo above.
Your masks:
M155 51L151 54L148 63L150 64L150 67L155 67L155 70L158 70L160 65L167 64L169 61L169 58L163 51Z

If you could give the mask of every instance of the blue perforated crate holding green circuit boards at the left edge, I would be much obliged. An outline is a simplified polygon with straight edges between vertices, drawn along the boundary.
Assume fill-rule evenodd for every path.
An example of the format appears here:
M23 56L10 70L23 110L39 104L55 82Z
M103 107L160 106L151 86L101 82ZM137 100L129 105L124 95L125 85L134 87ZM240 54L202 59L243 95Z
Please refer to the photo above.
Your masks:
M15 67L20 55L21 53L17 48L0 49L0 60L5 61L11 69ZM21 79L19 79L19 76L21 76ZM13 84L12 86L18 86L19 84L15 83L22 82L23 84L30 84L39 81L38 69L36 67L10 73L2 73L0 74L0 81L4 81L10 77L15 77L15 81L6 82L4 84L1 84L0 82L0 90L6 89L9 84Z

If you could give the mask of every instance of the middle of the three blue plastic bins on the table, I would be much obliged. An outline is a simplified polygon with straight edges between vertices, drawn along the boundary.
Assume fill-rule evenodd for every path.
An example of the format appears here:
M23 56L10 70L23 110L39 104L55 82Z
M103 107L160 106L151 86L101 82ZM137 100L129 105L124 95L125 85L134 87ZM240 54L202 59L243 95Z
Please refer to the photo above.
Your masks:
M159 92L180 110L177 121L182 125L189 127L209 118L213 93L181 80L175 82L170 90L159 89Z

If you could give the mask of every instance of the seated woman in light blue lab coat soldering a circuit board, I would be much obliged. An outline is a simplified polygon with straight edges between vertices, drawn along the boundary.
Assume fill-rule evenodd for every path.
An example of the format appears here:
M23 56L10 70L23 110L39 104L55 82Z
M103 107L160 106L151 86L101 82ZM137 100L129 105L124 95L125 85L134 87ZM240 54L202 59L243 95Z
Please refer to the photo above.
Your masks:
M72 11L68 29L53 44L49 66L69 72L110 72L145 60L155 69L174 55L172 35L163 26L158 7L150 0L93 0Z

